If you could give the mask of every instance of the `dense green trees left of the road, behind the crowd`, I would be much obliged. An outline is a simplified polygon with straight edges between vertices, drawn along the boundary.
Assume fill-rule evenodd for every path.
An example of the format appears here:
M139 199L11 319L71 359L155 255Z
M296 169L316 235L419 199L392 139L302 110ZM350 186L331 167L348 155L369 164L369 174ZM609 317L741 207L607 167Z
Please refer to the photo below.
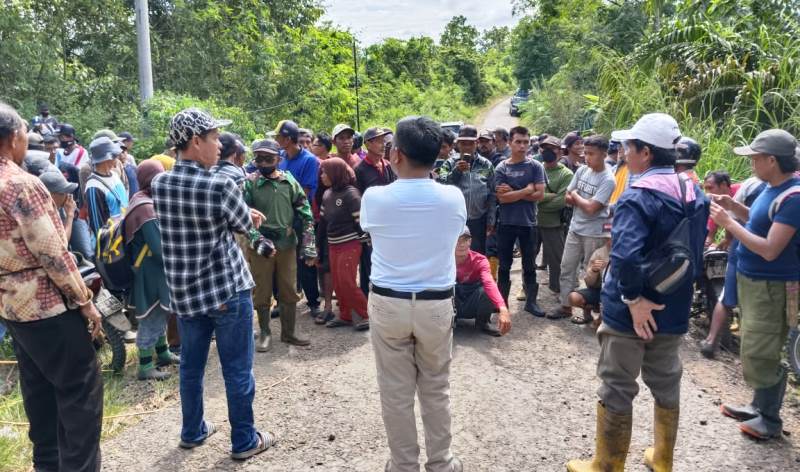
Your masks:
M187 105L234 119L246 139L284 118L312 129L355 124L353 35L321 21L321 0L150 0L156 96L139 105L132 0L6 0L0 100L36 114L46 102L86 141L112 127L145 133L160 152L167 120ZM510 32L464 17L429 37L357 47L361 127L408 114L469 119L513 88Z

